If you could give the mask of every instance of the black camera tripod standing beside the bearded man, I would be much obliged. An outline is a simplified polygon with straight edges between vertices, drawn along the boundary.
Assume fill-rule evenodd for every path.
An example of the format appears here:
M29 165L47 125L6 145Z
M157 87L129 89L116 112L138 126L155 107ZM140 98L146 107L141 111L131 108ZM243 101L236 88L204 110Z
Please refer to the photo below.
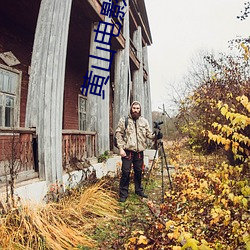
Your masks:
M160 128L157 128L160 130ZM158 132L159 133L159 132ZM155 132L156 134L156 138L158 137L158 133ZM162 188L162 197L161 197L161 200L162 200L162 203L164 202L164 162L163 160L165 161L165 167L167 169L167 173L168 173L168 179L169 179L169 186L170 186L170 189L172 189L172 180L171 180L171 176L170 176L170 172L169 172L169 166L168 166L168 163L167 163L167 156L166 156L166 153L165 153L165 150L164 150L164 146L163 146L163 141L162 139L156 139L156 142L155 142L155 155L154 155L154 158L153 158L153 162L152 162L152 165L149 169L149 172L148 172L148 178L147 178L147 181L146 181L146 184L145 184L145 190L146 190L146 187L148 185L148 181L149 181L149 178L150 178L150 174L152 172L152 169L153 169L153 166L154 166L154 163L155 163L155 160L156 160L156 155L161 156L161 188Z

